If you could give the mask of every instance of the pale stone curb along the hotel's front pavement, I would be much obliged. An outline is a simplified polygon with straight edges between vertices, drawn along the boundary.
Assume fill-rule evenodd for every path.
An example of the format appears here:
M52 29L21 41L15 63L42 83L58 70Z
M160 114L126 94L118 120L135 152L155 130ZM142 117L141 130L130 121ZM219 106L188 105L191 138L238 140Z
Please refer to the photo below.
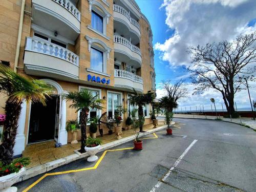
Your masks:
M175 124L175 122L173 122L172 124ZM163 126L155 128L155 129L148 130L145 133L140 133L139 137L143 137L145 135L152 134L152 133L157 132L159 130L163 130L166 127L167 127L167 125L163 125ZM113 142L110 142L110 143L106 143L106 144L104 144L104 145L102 145L100 147L99 152L108 150L109 148L121 145L123 143L132 141L134 139L135 139L135 136L132 135L132 136L129 136L129 137L122 138L120 140L116 140L116 141L113 141ZM71 163L73 161L76 161L78 159L81 159L81 158L89 156L87 153L80 155L80 153L77 152L77 151L78 150L75 150L74 151L75 154L72 154L70 156L67 156L67 157L64 157L64 158L60 158L60 159L57 159L57 160L54 160L54 161L51 161L51 162L48 162L48 163L45 163L45 164L41 164L41 165L35 166L35 167L28 168L27 172L26 172L26 175L23 176L23 177L20 177L20 179L16 183L25 181L25 180L30 179L32 177L35 177L35 176L37 176L39 174L43 174L43 173L49 172L50 170L52 170L54 168L57 168L59 166L62 166L62 165Z

